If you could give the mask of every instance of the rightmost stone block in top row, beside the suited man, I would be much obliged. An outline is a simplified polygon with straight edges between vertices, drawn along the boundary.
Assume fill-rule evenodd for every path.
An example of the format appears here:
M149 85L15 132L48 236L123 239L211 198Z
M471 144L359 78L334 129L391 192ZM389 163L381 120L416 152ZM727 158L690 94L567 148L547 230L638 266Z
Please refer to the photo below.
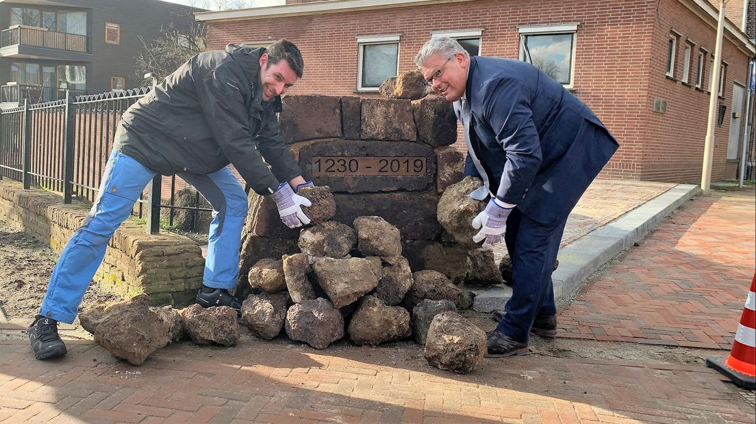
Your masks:
M417 138L431 146L448 146L457 141L457 115L444 97L428 96L412 102Z

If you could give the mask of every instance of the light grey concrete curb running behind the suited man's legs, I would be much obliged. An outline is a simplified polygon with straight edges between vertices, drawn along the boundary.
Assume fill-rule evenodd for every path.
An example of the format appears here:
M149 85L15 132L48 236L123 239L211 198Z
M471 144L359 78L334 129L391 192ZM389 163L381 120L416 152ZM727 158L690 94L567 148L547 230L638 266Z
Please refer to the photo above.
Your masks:
M551 276L556 302L559 303L559 300L574 293L593 272L643 238L665 217L700 191L699 186L678 184L616 220L562 247L558 257L559 269ZM497 286L476 294L472 309L491 312L494 309L503 309L512 295L512 290L510 287Z

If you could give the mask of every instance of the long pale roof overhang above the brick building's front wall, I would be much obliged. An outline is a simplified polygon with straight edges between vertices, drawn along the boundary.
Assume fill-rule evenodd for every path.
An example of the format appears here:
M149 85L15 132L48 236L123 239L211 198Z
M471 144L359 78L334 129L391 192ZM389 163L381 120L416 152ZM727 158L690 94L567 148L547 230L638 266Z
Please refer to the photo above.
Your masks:
M295 5L268 6L267 8L240 9L236 11L201 12L194 14L197 20L209 22L230 20L255 20L271 17L293 17L313 14L336 14L352 11L370 11L410 6L463 3L473 0L330 0Z

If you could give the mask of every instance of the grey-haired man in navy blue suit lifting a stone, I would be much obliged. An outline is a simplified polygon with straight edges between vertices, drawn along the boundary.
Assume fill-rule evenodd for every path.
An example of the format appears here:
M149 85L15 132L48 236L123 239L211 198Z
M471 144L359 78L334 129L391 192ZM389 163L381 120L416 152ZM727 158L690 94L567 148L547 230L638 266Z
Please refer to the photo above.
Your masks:
M577 97L519 60L469 57L432 38L415 57L426 84L454 102L467 143L466 174L482 178L485 210L472 239L507 244L512 298L488 335L488 356L526 355L531 331L556 336L551 272L567 217L618 148Z

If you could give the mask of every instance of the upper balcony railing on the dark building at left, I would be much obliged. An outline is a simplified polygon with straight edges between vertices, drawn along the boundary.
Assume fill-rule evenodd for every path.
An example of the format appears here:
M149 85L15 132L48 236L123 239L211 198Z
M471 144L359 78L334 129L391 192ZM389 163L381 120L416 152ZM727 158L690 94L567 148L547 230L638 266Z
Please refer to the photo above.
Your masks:
M2 31L0 48L12 45L87 53L87 36L50 31L36 26L14 25Z

